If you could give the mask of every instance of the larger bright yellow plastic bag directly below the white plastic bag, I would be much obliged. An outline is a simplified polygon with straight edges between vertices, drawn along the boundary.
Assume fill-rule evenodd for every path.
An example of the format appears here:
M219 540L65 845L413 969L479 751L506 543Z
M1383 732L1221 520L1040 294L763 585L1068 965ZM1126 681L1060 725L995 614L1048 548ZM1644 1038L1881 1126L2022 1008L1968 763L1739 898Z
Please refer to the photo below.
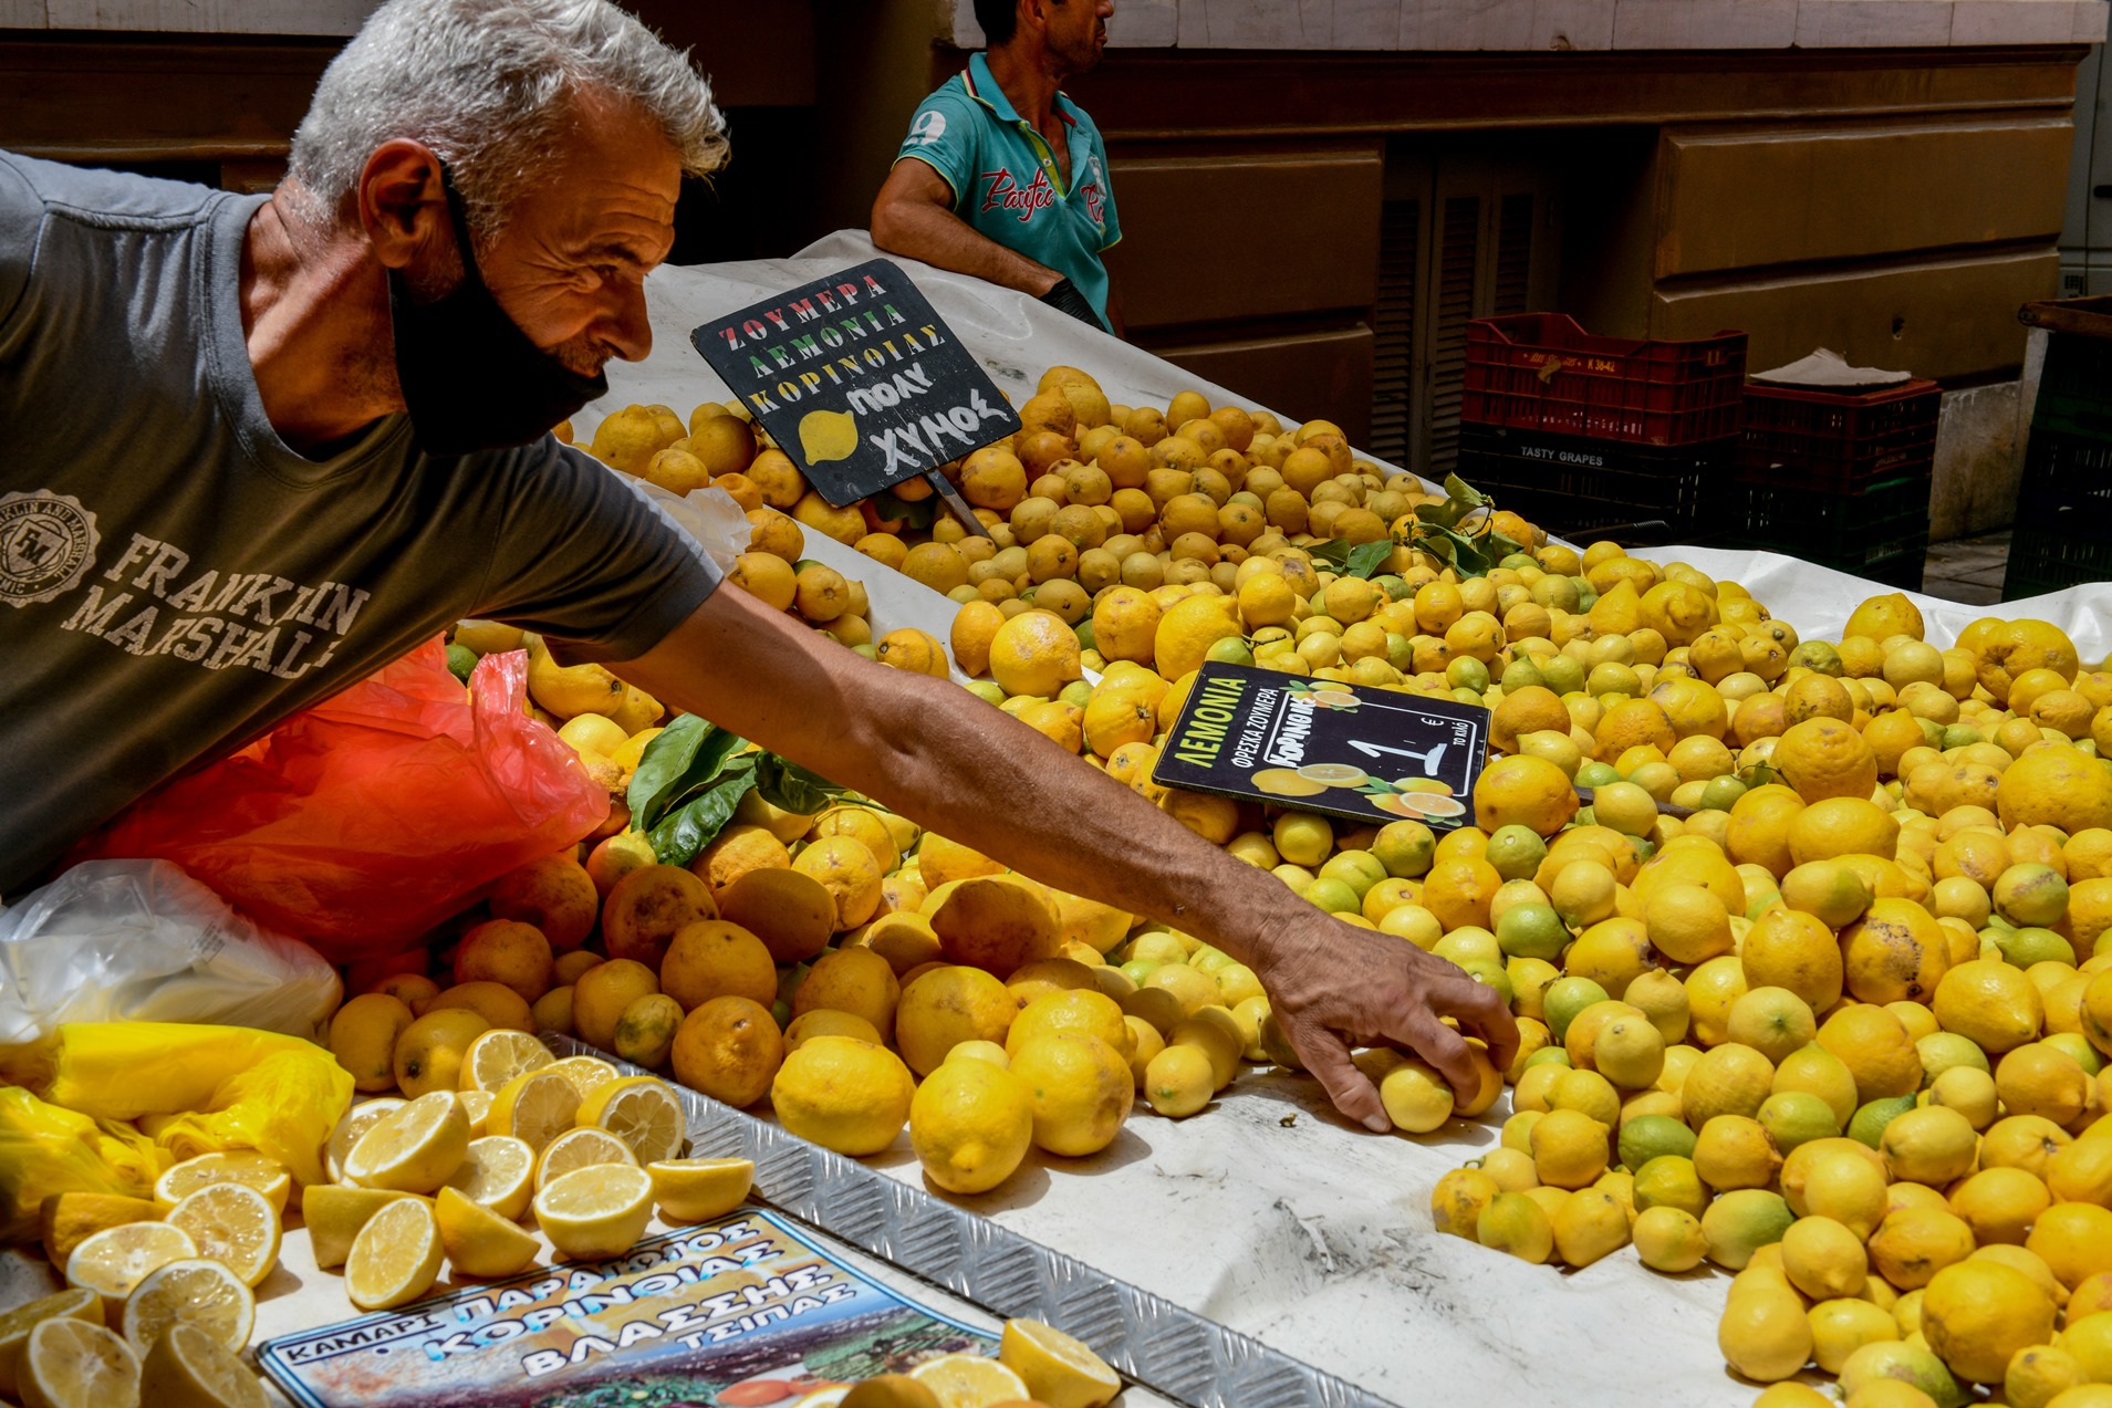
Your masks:
M353 1102L329 1051L245 1026L65 1024L38 1066L46 1100L139 1121L175 1159L253 1148L304 1184L323 1182L323 1142Z

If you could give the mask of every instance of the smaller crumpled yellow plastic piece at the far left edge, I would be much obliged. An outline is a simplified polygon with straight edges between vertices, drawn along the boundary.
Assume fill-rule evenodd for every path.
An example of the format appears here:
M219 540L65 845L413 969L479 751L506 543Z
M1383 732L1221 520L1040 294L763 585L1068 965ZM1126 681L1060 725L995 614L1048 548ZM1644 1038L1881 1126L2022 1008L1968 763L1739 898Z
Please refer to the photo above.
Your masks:
M19 1085L0 1089L0 1241L34 1241L53 1193L152 1197L167 1150L118 1121L61 1110Z

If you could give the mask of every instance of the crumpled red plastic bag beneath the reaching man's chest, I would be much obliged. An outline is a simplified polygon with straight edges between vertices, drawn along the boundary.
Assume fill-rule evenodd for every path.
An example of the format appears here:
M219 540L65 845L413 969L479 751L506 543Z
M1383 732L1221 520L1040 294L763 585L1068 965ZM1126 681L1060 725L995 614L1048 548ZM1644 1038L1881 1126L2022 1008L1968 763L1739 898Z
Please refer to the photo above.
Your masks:
M484 657L469 684L465 699L435 638L142 798L68 859L175 861L334 963L403 952L608 817L608 792L524 711L524 652Z

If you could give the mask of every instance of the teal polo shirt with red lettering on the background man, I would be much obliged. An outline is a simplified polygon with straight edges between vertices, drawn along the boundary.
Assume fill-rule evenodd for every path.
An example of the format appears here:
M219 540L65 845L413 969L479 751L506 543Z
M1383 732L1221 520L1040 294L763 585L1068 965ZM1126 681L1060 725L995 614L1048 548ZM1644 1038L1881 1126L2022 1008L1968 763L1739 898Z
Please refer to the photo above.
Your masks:
M1064 274L1109 325L1100 251L1121 239L1121 224L1107 182L1107 144L1086 110L1062 93L1056 116L1071 146L1069 188L1048 141L1012 108L978 53L917 108L895 160L927 163L953 186L955 215Z

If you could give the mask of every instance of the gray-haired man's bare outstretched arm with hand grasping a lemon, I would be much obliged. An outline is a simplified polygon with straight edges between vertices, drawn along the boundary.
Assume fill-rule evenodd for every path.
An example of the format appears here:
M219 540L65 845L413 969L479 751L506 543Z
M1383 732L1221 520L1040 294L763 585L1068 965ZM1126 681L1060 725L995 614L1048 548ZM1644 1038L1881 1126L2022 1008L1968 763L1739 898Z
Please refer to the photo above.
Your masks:
M1497 1070L1516 1051L1495 988L1322 914L957 684L874 665L737 587L615 671L1045 884L1223 948L1261 977L1335 1106L1371 1129L1390 1123L1352 1045L1409 1047L1462 1098L1478 1077L1440 1017L1481 1034Z

